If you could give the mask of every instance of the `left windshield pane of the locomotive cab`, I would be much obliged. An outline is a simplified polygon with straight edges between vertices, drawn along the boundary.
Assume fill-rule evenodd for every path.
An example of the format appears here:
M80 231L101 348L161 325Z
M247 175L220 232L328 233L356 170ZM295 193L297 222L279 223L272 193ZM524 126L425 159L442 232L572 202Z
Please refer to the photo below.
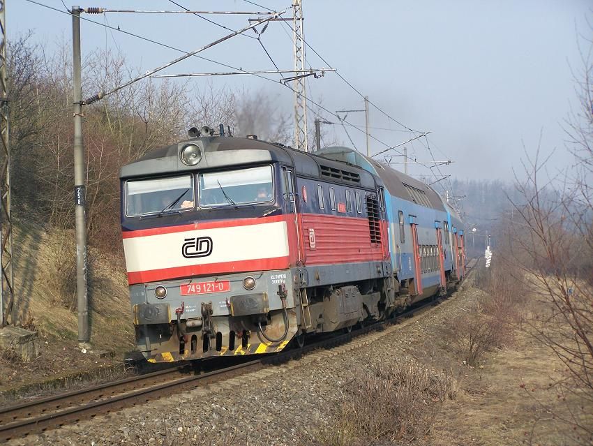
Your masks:
M193 197L191 175L127 181L126 215L133 217L190 209L193 208Z

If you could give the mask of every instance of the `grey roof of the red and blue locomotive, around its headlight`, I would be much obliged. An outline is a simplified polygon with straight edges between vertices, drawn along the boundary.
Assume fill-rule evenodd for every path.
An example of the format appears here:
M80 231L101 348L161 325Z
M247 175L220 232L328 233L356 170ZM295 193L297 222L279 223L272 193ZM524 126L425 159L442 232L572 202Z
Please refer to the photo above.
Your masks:
M183 164L179 158L181 149L190 143L197 144L204 152L200 163L193 167ZM364 188L375 188L376 181L373 174L360 167L356 168L338 161L331 161L280 144L271 144L262 140L242 137L197 137L155 149L137 161L124 165L119 176L126 179L266 162L279 162L293 166L296 174L306 177L320 178L352 186L360 185ZM329 171L344 174L324 176L322 173ZM356 182L347 180L352 177L357 178ZM377 181L380 180L377 178Z

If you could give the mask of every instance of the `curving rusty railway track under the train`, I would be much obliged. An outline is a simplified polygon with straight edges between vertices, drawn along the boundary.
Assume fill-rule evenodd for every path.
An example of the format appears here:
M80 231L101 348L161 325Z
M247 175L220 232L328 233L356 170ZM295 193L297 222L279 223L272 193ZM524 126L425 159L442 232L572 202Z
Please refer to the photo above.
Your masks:
M475 267L477 259L468 262L467 273ZM269 364L280 364L296 359L320 348L333 348L369 332L383 329L386 325L398 323L405 318L426 311L446 299L438 297L421 306L397 315L395 318L373 325L353 329L350 333L332 336L303 348L287 350L258 359L242 362L223 369L197 372L190 364L134 376L123 380L80 389L44 399L37 399L17 406L0 409L0 441L22 438L31 433L57 429L65 424L91 419L98 415L117 412L123 408L148 403L169 394L207 386L213 382L236 378L257 371Z

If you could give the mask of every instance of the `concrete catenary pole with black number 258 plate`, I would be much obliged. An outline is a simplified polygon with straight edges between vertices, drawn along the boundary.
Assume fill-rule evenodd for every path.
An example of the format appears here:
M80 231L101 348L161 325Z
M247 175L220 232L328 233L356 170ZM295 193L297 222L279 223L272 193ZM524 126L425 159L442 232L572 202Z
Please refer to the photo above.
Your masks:
M72 7L72 60L74 83L74 202L76 219L76 295L78 343L84 347L91 339L89 329L89 291L87 288L87 216L85 209L84 147L82 147L82 80L80 62L80 13Z

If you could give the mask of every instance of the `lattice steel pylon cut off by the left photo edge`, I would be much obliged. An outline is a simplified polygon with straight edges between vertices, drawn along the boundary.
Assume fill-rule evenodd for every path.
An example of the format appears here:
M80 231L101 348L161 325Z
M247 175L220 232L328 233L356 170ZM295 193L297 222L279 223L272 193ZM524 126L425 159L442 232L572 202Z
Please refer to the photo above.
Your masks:
M0 0L0 327L12 316L15 302L13 276L13 221L10 215L10 126L8 124L8 67L6 59L6 0Z

